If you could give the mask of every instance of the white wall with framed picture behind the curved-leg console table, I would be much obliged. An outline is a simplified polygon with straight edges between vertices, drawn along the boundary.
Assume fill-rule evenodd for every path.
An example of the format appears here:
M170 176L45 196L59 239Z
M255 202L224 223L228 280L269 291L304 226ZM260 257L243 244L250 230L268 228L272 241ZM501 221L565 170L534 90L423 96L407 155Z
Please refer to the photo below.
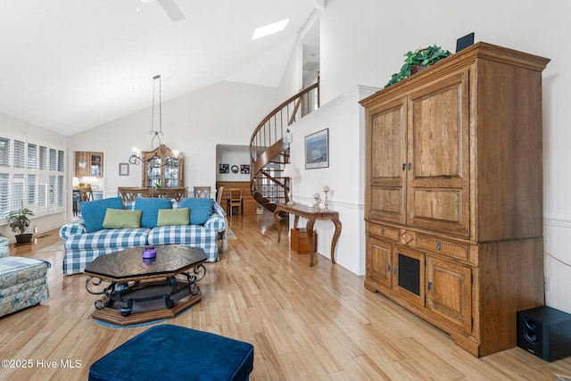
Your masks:
M319 193L323 206L324 186L329 186L327 201L332 211L339 212L341 236L335 249L335 261L355 274L365 273L365 222L363 214L364 171L364 112L358 102L377 88L355 87L310 113L292 126L290 161L300 170L294 180L293 198L296 203L313 204ZM305 137L328 129L329 166L305 169ZM300 219L304 226L305 219ZM290 219L293 228L294 219ZM331 239L335 226L329 220L318 220L318 253L330 258Z

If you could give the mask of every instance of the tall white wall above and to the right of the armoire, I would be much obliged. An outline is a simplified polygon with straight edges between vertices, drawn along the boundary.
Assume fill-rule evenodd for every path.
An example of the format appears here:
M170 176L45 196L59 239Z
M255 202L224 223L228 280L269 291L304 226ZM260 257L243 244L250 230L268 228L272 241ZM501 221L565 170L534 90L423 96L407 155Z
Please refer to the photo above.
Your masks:
M456 39L472 31L476 41L551 59L543 71L545 250L566 264L545 256L545 274L550 278L546 302L567 312L571 312L567 295L571 286L571 150L567 147L571 141L571 113L567 112L571 51L563 38L569 34L569 14L571 2L560 0L413 0L407 4L398 0L328 0L319 17L322 105L357 85L385 87L400 70L407 51L437 44L454 52ZM285 79L297 75L296 54ZM286 88L285 84L281 87ZM356 148L349 148L348 154ZM337 153L332 154L335 157ZM332 175L345 176L338 171ZM322 184L316 180L311 187Z

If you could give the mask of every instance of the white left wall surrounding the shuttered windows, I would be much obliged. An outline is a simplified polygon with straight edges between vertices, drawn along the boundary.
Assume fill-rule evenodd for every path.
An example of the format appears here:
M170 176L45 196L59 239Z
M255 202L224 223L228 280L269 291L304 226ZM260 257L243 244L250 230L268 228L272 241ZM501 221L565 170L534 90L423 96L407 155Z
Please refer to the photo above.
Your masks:
M67 138L55 133L46 128L41 128L36 125L30 124L26 121L12 118L0 112L0 134L5 133L11 137L20 137L21 139L29 139L30 143L44 144L52 148L62 149L67 156L68 166L73 162L73 152L66 150ZM70 159L71 157L71 159ZM71 201L71 195L66 196ZM71 203L69 203L70 207ZM66 221L66 213L55 213L47 216L34 216L30 219L31 225L28 230L31 233L33 227L37 228L37 233L42 233L47 230L61 227ZM0 219L0 223L4 224L6 219ZM15 233L7 225L0 225L0 233L7 236L11 242L14 241L13 236Z

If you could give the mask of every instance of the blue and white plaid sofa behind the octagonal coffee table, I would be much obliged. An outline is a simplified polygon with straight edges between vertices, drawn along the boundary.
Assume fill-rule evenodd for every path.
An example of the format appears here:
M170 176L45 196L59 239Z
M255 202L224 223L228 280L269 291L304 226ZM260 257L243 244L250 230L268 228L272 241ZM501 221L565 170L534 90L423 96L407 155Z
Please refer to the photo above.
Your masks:
M131 203L121 203L125 210L137 210L137 200ZM97 201L88 203L91 205ZM170 201L170 203L172 209L178 209L181 205L175 201ZM81 203L82 216L83 207ZM145 219L145 211L143 219ZM205 222L194 224L192 218L190 222L189 225L152 228L147 225L141 228L101 228L95 231L88 231L85 219L65 224L60 228L60 236L65 249L63 274L73 275L83 272L86 266L99 255L115 253L131 247L158 244L201 247L206 253L206 261L218 261L219 240L222 241L221 252L228 247L226 212L218 203L212 201L211 213Z

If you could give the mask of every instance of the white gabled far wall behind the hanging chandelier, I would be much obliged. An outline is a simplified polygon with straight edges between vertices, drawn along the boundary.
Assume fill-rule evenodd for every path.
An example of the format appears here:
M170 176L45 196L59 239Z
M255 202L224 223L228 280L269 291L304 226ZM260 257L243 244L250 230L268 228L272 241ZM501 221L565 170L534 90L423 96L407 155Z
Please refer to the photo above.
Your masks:
M161 142L184 153L185 186L215 189L216 146L249 146L254 128L280 102L276 88L236 82L220 82L163 102ZM150 129L149 107L74 135L69 138L69 146L72 151L103 151L105 196L114 196L118 186L141 186L141 167L130 165L129 176L119 176L119 163L128 162L134 146L141 151L151 150Z

